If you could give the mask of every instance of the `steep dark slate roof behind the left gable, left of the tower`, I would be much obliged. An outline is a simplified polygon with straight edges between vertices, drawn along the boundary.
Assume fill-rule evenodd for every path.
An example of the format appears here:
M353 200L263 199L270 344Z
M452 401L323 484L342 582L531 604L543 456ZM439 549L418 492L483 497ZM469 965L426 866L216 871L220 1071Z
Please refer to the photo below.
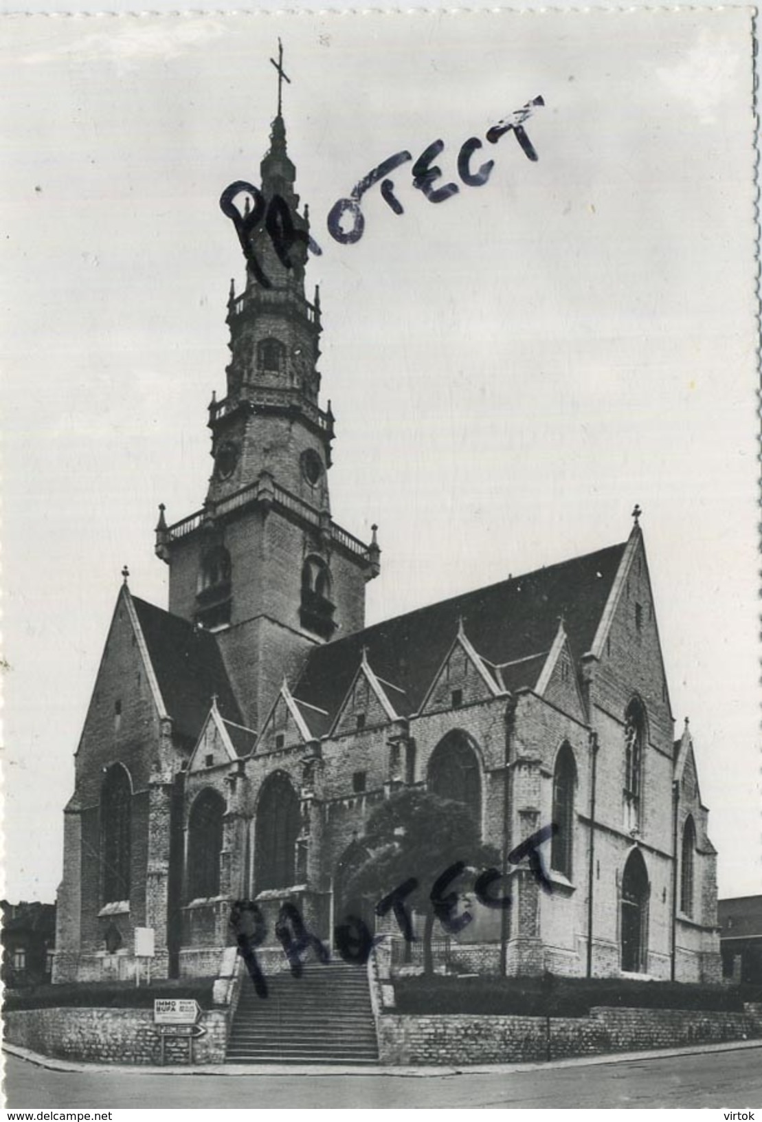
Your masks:
M220 715L241 724L241 711L214 635L136 596L132 604L177 733L196 741L213 693L217 696Z

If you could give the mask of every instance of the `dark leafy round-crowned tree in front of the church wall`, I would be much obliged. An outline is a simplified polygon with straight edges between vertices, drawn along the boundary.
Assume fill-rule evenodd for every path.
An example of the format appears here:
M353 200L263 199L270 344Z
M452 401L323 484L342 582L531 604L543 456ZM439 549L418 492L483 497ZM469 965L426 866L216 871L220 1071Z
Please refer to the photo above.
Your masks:
M409 940L410 910L424 919L424 973L434 971L431 937L439 920L446 931L468 922L456 916L463 893L476 876L499 862L496 850L482 844L468 808L419 788L408 788L382 802L359 839L368 850L350 881L352 894L372 894L377 914L393 910Z

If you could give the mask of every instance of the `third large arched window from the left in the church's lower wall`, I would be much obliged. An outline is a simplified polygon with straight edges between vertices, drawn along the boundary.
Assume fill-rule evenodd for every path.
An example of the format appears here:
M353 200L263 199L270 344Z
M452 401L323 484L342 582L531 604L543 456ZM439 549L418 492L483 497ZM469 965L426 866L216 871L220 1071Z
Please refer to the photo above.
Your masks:
M299 799L284 772L262 784L254 828L254 891L287 889L296 881Z

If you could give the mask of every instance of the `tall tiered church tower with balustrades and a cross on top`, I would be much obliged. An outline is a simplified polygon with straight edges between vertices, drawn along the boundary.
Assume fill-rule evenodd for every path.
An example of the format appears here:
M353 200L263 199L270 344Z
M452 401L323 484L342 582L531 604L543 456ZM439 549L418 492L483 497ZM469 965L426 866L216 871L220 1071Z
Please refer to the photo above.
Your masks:
M245 287L227 301L226 393L208 406L214 468L201 511L167 525L156 552L169 564L169 610L214 632L244 717L259 728L284 675L315 645L364 626L370 544L331 517L327 472L334 417L319 403L320 304L305 295L308 208L281 111L261 186L240 182L221 206L234 217ZM236 190L238 188L238 190Z

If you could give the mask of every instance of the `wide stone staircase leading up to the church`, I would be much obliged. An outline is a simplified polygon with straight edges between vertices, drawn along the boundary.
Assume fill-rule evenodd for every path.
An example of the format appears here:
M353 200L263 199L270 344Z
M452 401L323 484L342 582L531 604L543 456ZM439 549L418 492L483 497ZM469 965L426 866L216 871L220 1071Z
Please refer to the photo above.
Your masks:
M309 960L301 977L269 975L267 986L259 997L243 975L226 1064L379 1063L364 966Z

